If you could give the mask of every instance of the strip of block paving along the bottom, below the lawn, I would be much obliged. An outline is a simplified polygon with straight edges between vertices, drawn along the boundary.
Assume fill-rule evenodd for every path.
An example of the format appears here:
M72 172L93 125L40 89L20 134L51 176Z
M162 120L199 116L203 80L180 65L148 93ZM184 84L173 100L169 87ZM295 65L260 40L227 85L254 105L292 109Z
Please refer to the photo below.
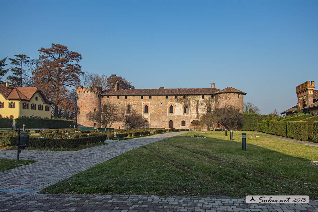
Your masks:
M318 201L309 204L246 204L229 197L164 197L146 195L45 195L1 193L0 211L272 211L317 212Z

